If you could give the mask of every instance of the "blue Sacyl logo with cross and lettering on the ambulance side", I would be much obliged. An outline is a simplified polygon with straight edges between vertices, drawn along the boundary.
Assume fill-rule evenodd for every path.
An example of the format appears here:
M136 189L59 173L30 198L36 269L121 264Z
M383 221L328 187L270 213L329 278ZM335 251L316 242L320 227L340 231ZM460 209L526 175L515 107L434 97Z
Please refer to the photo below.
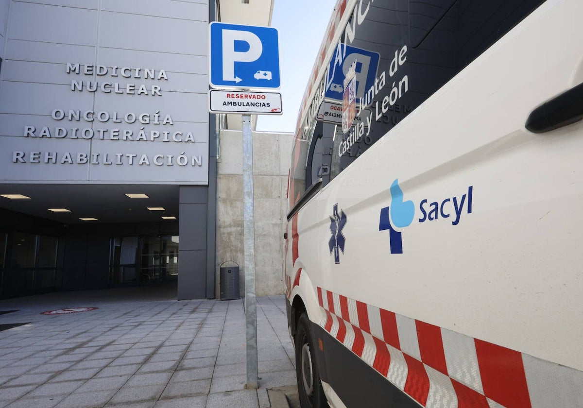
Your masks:
M441 218L449 218L455 215L451 221L453 226L459 224L464 210L466 213L472 213L472 194L473 186L468 187L468 193L463 194L461 198L452 197L441 201L433 201L427 205L429 199L423 199L419 203L419 210L422 217L417 219L420 223L425 221L434 221ZM454 212L451 212L453 206ZM378 225L379 231L389 230L389 243L391 254L403 253L403 240L401 237L401 228L410 226L415 218L415 203L413 201L403 201L403 191L399 187L399 180L396 179L391 184L391 205L381 208L381 216ZM396 229L397 228L397 229Z

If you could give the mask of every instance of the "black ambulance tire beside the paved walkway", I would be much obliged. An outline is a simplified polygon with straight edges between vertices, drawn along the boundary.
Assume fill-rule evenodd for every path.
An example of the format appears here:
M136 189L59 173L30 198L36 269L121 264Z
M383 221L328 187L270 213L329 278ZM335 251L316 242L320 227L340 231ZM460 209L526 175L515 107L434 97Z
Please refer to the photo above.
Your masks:
M297 391L301 408L328 408L316 364L310 319L305 313L298 320L294 342L296 344Z

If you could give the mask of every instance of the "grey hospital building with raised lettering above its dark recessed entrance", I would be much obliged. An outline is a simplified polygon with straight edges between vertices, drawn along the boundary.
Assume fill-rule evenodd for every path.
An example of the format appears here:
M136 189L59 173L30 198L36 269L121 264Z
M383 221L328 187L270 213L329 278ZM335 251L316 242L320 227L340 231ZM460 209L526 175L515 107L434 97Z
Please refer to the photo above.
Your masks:
M257 19L239 3L0 2L0 296L163 279L216 296L208 24Z

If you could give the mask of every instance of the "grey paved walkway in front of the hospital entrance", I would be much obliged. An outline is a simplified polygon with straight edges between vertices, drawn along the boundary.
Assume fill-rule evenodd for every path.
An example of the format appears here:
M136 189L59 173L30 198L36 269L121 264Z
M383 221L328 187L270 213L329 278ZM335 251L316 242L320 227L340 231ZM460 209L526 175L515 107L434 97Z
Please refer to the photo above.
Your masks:
M0 325L27 323L0 331L0 407L265 408L296 384L283 296L257 300L259 389L245 390L243 302L148 290L0 301L17 309ZM97 309L40 314L71 307Z

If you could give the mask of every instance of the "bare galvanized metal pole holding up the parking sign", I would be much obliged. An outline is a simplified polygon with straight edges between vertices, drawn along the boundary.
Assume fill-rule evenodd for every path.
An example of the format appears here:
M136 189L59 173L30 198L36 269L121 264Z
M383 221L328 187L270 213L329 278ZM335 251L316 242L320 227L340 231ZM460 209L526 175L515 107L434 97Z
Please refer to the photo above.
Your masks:
M253 212L253 141L251 115L243 115L243 241L245 248L245 318L247 384L257 389L257 301L255 299L255 217Z

